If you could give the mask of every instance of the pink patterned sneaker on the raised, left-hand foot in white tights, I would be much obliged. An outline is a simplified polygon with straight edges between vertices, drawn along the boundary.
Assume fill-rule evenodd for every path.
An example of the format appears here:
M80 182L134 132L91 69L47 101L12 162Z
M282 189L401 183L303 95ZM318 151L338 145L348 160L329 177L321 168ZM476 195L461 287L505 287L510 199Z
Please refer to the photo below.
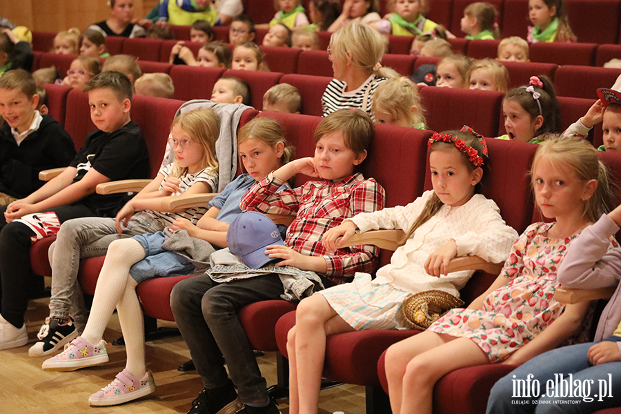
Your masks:
M106 341L101 339L99 344L92 345L83 337L73 339L65 345L65 351L55 357L46 359L41 368L45 371L75 371L79 368L105 364L108 362Z

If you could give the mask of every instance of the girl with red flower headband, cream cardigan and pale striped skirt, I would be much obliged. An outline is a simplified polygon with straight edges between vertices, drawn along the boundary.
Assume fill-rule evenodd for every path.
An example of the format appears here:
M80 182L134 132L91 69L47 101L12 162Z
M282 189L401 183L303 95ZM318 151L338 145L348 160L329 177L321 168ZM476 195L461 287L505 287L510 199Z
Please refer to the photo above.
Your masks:
M433 190L405 207L346 219L322 238L325 248L334 251L357 228L407 233L391 264L377 270L373 281L357 273L352 283L322 290L297 307L287 342L290 413L317 412L326 335L406 328L400 309L408 295L440 289L458 296L471 277L471 271L446 275L450 259L472 254L498 262L509 255L517 233L504 224L493 201L475 194L488 165L487 148L483 137L467 130L435 132L430 139Z

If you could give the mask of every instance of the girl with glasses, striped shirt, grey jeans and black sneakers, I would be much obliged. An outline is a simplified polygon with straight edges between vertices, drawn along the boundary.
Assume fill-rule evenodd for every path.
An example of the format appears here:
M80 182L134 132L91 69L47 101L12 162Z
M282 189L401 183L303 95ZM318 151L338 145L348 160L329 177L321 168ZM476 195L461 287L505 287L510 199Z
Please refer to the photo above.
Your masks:
M179 213L160 213L159 210L162 197L184 191L187 194L208 193L217 188L217 161L214 154L215 141L219 135L218 122L213 110L187 112L175 118L171 127L175 159L172 164L162 167L157 177L128 201L117 214L116 223L111 218L91 217L63 223L66 226L61 226L55 248L50 252L50 317L39 331L39 342L30 348L31 356L49 355L61 348L63 342L69 342L77 335L69 313L75 318L79 331L86 324L86 311L79 284L76 283L80 257L105 255L113 240L156 233L178 217L196 222L203 215L204 208ZM136 210L139 213L130 219ZM56 332L60 332L62 336L59 337L65 339L57 343L60 339L55 338ZM99 339L91 343L97 342ZM43 368L46 366L44 364Z

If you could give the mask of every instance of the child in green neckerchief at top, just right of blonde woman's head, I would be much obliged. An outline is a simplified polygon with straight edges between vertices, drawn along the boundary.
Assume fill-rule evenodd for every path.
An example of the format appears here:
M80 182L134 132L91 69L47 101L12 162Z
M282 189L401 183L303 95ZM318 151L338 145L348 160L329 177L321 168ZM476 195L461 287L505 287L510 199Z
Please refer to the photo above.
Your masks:
M423 16L428 11L427 0L391 0L388 4L395 12L388 19L371 23L382 34L418 36L437 27Z

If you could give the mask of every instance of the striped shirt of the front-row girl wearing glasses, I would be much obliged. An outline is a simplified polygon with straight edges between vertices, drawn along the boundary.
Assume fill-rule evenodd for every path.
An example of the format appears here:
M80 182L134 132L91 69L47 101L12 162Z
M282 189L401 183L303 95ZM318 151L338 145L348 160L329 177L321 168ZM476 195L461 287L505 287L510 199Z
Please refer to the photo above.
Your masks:
M164 186L164 182L166 181L166 177L172 174L172 163L161 167L158 174L164 175L164 181L161 181L161 185L159 186L159 189L161 190L161 187ZM218 169L207 167L199 172L196 172L195 174L186 174L183 177L179 177L179 180L181 180L181 183L179 184L181 193L184 193L184 191L198 182L204 182L210 187L210 190L213 191L218 188ZM181 193L175 193L173 195L180 195ZM172 222L179 218L188 219L192 222L192 224L197 224L206 211L207 207L193 207L179 213L168 213L152 210L149 210L149 213L154 215L161 224L167 227L172 225Z

